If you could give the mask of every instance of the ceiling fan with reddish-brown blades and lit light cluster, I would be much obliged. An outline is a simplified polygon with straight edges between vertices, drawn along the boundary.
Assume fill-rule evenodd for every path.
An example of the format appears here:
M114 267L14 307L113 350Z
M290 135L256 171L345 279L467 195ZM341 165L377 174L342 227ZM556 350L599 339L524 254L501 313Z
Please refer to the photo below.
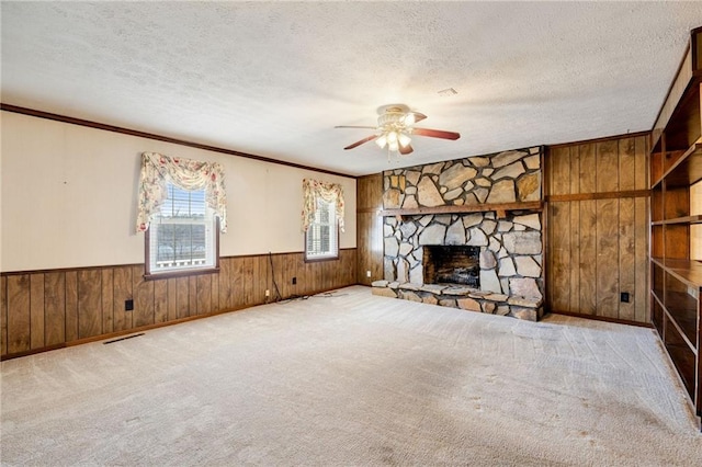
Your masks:
M375 140L375 144L377 144L381 149L387 146L388 151L397 151L405 156L414 150L410 145L411 135L453 140L461 137L461 134L454 132L417 128L415 123L427 118L427 115L410 111L405 104L381 105L377 107L377 126L336 126L335 128L371 128L376 130L374 135L355 141L343 149L353 149L364 143Z

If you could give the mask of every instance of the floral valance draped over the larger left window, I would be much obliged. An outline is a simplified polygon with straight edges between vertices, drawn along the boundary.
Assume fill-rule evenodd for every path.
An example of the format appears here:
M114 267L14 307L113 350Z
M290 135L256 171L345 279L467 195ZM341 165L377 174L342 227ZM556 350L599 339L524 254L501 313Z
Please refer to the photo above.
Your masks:
M227 192L222 164L143 152L137 193L137 232L149 228L150 217L159 212L168 197L168 182L183 190L206 189L207 206L219 217L219 230L223 234L227 231Z

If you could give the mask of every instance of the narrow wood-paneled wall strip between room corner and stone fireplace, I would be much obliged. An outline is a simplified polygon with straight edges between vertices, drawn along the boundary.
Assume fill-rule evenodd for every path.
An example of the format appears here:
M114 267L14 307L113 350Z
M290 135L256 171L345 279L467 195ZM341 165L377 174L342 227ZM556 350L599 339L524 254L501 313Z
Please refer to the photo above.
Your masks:
M361 176L356 181L358 282L371 285L383 278L383 174ZM367 276L371 271L371 277Z

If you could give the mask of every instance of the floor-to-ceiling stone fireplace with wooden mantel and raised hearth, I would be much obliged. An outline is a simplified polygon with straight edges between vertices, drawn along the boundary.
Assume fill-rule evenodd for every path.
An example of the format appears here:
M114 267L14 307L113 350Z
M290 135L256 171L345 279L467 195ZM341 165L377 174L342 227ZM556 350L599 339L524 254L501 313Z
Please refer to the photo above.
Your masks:
M541 160L542 148L535 147L386 171L385 281L374 283L373 292L539 319ZM428 260L454 247L469 248L473 260L460 258L462 264L449 265L448 280L437 280Z

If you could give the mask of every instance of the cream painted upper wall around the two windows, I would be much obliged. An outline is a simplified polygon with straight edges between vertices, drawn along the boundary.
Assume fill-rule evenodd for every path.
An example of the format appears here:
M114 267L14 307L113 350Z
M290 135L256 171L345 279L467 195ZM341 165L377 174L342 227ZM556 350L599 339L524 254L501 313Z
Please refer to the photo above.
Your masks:
M140 153L224 164L228 232L223 257L303 251L302 182L341 183L355 248L355 179L2 112L1 271L144 262L135 234Z

